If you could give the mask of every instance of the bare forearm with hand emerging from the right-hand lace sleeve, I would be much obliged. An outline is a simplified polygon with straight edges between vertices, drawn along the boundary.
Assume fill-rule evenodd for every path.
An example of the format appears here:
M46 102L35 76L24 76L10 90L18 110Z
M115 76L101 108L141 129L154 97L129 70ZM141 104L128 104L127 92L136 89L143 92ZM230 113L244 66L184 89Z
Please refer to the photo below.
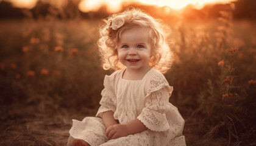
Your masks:
M110 125L106 130L108 139L127 136L129 134L140 133L148 128L138 119L134 119L126 124Z

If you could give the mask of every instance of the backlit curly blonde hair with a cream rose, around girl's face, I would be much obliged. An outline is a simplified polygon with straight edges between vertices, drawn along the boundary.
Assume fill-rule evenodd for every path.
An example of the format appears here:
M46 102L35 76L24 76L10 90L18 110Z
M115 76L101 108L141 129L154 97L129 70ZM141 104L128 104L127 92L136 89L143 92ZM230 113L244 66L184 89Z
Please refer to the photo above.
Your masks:
M98 40L103 69L116 71L125 67L118 60L117 46L121 33L134 27L148 29L149 37L152 40L149 66L163 74L171 68L172 52L166 43L166 37L170 30L162 23L161 19L154 19L140 9L128 8L122 13L116 13L103 19L103 21L104 24L99 27L100 37Z

